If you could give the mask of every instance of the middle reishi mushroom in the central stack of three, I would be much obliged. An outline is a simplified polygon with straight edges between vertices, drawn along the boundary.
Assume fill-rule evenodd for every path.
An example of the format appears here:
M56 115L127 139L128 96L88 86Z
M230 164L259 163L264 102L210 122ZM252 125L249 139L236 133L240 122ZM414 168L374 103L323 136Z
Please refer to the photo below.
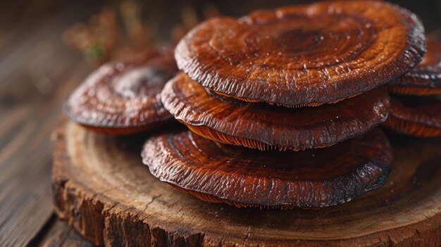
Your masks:
M193 132L225 144L261 150L330 146L368 132L389 113L385 88L332 105L285 108L210 94L183 72L166 84L161 100Z

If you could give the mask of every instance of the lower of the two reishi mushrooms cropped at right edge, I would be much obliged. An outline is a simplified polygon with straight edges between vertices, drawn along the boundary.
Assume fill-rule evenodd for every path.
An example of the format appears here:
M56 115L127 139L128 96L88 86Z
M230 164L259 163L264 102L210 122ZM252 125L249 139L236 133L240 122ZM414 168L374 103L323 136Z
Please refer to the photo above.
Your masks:
M441 137L440 96L402 96L390 105L386 127L416 137Z

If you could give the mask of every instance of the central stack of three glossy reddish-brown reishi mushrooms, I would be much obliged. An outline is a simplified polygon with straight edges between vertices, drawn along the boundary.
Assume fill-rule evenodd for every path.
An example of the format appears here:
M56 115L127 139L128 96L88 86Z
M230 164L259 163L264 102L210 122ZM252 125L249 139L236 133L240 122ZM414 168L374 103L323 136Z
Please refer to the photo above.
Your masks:
M143 162L209 202L289 209L351 201L390 172L390 144L375 128L390 110L383 85L425 52L421 21L386 2L208 20L176 47L182 72L161 92L191 131L151 137Z

